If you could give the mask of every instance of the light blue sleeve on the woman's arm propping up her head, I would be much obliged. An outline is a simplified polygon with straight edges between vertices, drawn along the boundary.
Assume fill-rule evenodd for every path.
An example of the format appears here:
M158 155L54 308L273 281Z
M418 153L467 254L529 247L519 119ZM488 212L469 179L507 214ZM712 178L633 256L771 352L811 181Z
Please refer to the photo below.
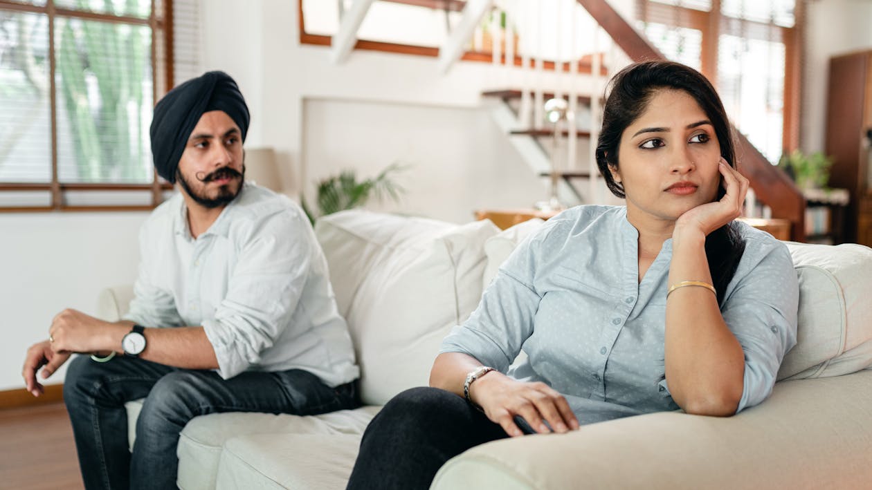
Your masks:
M780 242L767 240L761 246L768 250L739 279L722 309L745 352L745 384L737 413L772 393L781 360L796 344L800 291L793 260Z

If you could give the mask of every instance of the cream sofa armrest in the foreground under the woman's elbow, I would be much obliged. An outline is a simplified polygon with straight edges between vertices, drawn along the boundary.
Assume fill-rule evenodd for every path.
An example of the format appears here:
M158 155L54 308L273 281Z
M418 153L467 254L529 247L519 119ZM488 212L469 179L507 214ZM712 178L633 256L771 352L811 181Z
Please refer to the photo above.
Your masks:
M450 488L861 488L872 481L872 371L775 385L730 418L650 413L474 447Z

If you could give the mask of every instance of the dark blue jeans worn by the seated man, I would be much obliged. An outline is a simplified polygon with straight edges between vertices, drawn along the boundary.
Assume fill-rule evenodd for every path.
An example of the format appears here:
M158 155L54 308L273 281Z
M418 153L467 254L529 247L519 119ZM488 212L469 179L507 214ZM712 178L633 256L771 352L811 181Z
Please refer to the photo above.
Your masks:
M145 402L131 453L124 404L140 398ZM313 415L359 406L357 382L330 388L299 369L221 379L213 371L177 369L129 357L98 363L87 356L70 362L64 401L88 489L175 488L179 434L198 415Z

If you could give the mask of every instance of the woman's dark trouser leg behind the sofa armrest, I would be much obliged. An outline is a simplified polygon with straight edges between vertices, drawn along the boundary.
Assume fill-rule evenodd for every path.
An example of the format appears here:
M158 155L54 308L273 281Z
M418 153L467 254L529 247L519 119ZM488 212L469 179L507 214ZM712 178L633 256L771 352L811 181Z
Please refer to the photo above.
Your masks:
M456 394L412 388L391 399L366 427L348 488L426 489L447 460L507 437Z

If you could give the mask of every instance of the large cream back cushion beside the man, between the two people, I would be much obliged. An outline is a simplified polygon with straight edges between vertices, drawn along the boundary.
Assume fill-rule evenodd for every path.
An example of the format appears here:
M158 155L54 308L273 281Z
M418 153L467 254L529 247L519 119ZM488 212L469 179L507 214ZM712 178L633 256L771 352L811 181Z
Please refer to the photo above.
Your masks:
M449 225L357 210L318 220L365 404L426 386L442 339L478 305L484 243L497 232L487 220Z

